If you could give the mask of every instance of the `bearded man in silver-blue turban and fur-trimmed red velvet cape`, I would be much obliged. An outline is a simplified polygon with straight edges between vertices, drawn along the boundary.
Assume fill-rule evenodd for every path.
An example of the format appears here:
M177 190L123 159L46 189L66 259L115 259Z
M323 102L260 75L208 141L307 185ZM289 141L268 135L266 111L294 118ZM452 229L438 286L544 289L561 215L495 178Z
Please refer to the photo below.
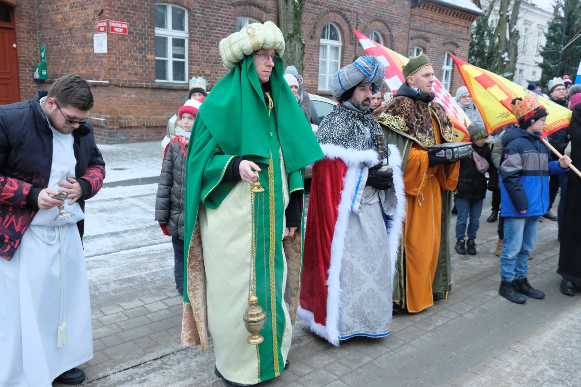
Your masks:
M392 325L406 198L399 151L388 150L371 117L371 95L384 77L375 56L361 56L332 75L329 85L340 104L317 132L325 158L313 166L299 317L333 345L384 337Z

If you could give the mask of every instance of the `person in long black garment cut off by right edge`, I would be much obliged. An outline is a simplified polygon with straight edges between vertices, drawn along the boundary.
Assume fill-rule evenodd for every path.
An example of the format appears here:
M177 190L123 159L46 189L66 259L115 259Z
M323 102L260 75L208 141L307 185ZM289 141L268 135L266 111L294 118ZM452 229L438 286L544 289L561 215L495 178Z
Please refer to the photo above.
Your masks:
M569 136L571 137L572 164L581 165L581 103L573 106ZM565 209L560 229L561 247L557 269L557 273L563 277L560 290L565 295L575 295L581 292L581 244L579 243L581 240L581 227L579 227L581 201L579 201L579 197L581 197L581 178L575 172L569 171Z

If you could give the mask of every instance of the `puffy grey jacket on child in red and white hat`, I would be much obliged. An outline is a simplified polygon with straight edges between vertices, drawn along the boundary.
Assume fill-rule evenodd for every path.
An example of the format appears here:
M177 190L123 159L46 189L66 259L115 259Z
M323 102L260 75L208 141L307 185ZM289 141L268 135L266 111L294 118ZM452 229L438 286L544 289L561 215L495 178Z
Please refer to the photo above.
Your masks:
M155 220L167 223L167 232L181 240L184 239L185 165L180 141L170 142L155 198Z

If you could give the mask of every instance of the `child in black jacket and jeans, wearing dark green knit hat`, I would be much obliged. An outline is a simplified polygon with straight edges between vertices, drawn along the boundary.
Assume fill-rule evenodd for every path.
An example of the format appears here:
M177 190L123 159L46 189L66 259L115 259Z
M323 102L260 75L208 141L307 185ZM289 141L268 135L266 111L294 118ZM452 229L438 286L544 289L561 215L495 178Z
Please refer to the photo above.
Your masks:
M492 164L490 147L486 144L487 133L482 122L474 121L468 129L472 140L473 157L460 161L460 177L456 190L456 246L454 249L460 255L467 252L476 255L476 232L480 226L482 202L486 197L487 179L489 174L496 173ZM468 222L469 220L469 222ZM468 231L467 231L468 224ZM464 236L468 234L468 243L465 245Z

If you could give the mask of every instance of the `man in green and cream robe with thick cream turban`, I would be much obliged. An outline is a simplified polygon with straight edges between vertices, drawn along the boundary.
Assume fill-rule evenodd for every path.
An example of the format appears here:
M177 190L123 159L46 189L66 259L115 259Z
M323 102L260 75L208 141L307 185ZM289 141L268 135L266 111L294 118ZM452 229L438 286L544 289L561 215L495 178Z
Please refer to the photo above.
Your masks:
M302 267L295 233L302 168L323 157L282 79L284 47L270 21L220 42L231 71L205 100L189 143L182 343L205 350L211 336L216 375L229 386L257 384L285 368ZM264 191L251 193L257 180ZM246 342L242 320L250 294L266 312L258 345Z

